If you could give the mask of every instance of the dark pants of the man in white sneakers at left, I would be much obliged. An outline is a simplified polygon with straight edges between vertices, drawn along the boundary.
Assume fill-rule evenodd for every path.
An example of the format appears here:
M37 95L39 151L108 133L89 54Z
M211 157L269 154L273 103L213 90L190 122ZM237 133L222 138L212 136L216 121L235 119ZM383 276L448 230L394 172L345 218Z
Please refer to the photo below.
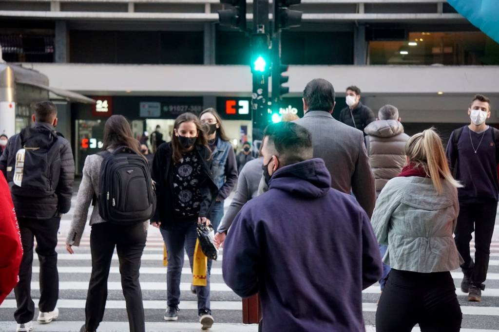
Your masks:
M41 312L54 310L59 298L59 274L57 272L57 231L60 218L31 219L18 218L21 233L22 260L19 267L19 283L14 288L17 310L14 313L18 324L33 320L34 303L31 299L31 267L33 264L33 239L36 237L35 251L40 263L40 301Z

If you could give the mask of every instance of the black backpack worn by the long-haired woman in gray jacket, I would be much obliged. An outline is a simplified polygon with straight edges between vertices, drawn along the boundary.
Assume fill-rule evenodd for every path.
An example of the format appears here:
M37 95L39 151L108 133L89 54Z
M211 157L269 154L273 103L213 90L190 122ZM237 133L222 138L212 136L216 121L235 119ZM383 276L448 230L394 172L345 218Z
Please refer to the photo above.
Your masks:
M99 215L118 225L144 222L154 215L156 194L147 161L128 147L98 153L100 166Z

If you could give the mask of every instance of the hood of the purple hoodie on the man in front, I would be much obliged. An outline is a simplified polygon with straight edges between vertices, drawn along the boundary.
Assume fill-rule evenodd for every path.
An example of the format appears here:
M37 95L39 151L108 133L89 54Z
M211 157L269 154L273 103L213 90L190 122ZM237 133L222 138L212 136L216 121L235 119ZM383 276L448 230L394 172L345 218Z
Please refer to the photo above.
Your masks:
M293 195L318 198L331 186L331 175L319 158L277 169L268 182L269 189L280 189Z

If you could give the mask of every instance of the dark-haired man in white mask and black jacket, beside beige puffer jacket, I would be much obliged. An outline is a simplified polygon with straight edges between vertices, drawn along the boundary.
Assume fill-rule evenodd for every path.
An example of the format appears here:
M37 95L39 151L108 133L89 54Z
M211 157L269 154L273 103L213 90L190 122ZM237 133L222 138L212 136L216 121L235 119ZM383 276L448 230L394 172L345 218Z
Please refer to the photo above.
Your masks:
M373 111L360 102L360 89L352 85L346 88L346 104L340 112L339 120L361 132L375 120Z

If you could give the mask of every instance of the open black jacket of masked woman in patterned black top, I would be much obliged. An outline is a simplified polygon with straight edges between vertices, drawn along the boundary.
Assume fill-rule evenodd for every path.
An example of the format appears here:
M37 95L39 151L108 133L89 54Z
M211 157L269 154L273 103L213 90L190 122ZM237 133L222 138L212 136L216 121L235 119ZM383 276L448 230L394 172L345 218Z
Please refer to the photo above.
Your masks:
M200 183L201 190L201 206L199 211L200 217L207 217L212 210L213 204L218 196L218 187L213 180L213 174L210 172L208 158L211 152L202 147L196 146L196 152L202 161L202 173L204 181ZM161 221L161 227L168 228L172 224L173 216L173 160L172 149L170 143L162 144L156 150L153 161L152 178L156 182L156 213L151 218L151 222Z

